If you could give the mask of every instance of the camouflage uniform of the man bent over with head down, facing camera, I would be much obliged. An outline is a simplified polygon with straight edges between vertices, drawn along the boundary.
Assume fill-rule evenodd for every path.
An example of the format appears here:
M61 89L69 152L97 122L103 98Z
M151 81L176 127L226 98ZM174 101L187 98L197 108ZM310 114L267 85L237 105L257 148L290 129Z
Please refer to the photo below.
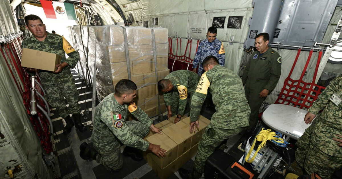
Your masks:
M187 101L188 99L191 101L199 81L199 76L193 71L177 70L168 74L165 79L171 80L173 85L173 91L164 93L165 104L171 106L172 114L177 112L179 104L178 114L184 115Z

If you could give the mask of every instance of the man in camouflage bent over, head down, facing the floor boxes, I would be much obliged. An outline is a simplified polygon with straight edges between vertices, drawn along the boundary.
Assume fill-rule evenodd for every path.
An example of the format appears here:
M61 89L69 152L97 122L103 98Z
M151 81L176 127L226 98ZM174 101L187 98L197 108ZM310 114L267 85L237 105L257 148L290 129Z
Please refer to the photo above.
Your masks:
M191 101L198 81L199 76L189 70L174 71L158 81L158 90L164 93L164 101L168 107L168 118L175 114L178 108L174 123L180 121L184 115L186 104Z

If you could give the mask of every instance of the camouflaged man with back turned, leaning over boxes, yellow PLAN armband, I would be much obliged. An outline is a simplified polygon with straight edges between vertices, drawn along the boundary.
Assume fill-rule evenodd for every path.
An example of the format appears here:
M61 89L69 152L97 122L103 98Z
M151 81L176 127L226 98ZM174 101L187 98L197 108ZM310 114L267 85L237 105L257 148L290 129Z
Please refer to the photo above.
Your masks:
M190 131L196 130L196 126L198 128L197 118L209 87L216 112L199 141L193 170L179 170L184 179L200 178L209 155L229 137L239 133L242 127L247 126L250 115L240 77L219 65L214 56L205 58L203 67L206 72L201 76L191 101Z

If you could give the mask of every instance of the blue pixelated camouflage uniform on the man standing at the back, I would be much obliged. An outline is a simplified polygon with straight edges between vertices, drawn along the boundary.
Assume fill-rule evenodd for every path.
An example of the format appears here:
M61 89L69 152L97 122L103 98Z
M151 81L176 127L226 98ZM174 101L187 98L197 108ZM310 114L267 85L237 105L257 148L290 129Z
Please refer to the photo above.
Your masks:
M210 55L215 56L219 60L219 64L224 66L224 45L217 38L215 38L215 40L211 43L208 41L208 39L202 40L198 46L196 56L193 61L193 69L197 68L197 65L199 65L197 71L199 76L204 73L202 66L203 60Z

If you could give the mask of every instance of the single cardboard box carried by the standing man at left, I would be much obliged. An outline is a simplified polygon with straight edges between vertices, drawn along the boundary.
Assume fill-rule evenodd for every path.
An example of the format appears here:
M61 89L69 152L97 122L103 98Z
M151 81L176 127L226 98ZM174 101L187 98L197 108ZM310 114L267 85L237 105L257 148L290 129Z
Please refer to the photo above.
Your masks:
M45 51L23 48L21 60L23 67L55 72L57 70L56 65L61 63L61 56Z

